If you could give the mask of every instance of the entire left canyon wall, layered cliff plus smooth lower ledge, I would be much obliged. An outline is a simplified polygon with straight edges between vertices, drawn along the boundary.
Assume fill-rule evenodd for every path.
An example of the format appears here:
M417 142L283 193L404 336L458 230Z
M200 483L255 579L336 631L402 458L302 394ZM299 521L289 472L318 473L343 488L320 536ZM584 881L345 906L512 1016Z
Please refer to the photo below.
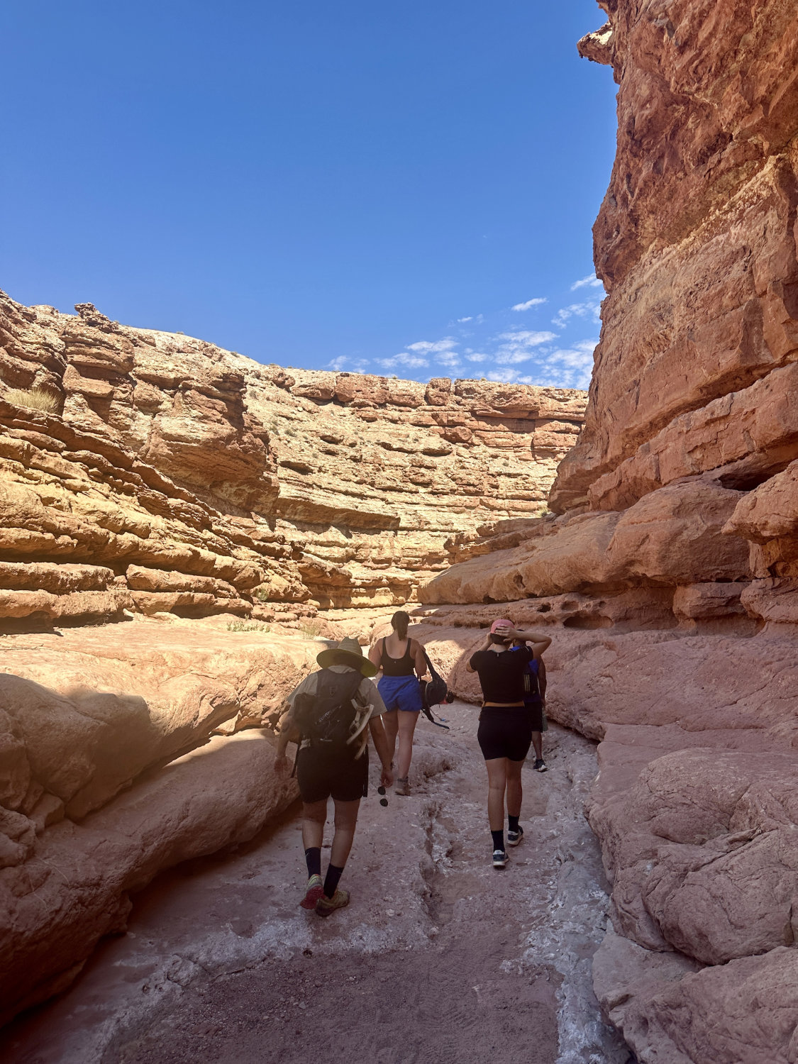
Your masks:
M586 399L289 371L77 311L0 294L0 1023L159 870L295 800L269 732L313 636L367 636L534 523Z

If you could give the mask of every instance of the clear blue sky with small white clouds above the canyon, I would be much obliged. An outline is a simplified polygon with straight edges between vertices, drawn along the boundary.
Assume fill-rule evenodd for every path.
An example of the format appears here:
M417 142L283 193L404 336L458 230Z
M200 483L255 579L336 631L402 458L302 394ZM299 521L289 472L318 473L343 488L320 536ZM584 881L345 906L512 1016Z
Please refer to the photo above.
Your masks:
M595 0L5 0L0 287L284 366L584 386Z

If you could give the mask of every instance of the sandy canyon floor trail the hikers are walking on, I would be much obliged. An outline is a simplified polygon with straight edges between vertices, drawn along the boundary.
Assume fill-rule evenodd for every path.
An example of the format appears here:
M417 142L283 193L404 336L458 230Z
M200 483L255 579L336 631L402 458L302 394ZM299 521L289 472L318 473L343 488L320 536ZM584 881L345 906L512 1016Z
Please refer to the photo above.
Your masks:
M606 921L583 817L593 744L546 736L525 769L523 843L493 869L477 711L417 730L413 795L362 805L349 909L298 908L298 810L246 847L162 876L127 935L6 1028L7 1064L628 1064L591 959ZM371 777L376 781L376 758ZM330 828L328 827L328 838ZM326 851L327 852L327 851ZM323 861L322 855L322 861Z

